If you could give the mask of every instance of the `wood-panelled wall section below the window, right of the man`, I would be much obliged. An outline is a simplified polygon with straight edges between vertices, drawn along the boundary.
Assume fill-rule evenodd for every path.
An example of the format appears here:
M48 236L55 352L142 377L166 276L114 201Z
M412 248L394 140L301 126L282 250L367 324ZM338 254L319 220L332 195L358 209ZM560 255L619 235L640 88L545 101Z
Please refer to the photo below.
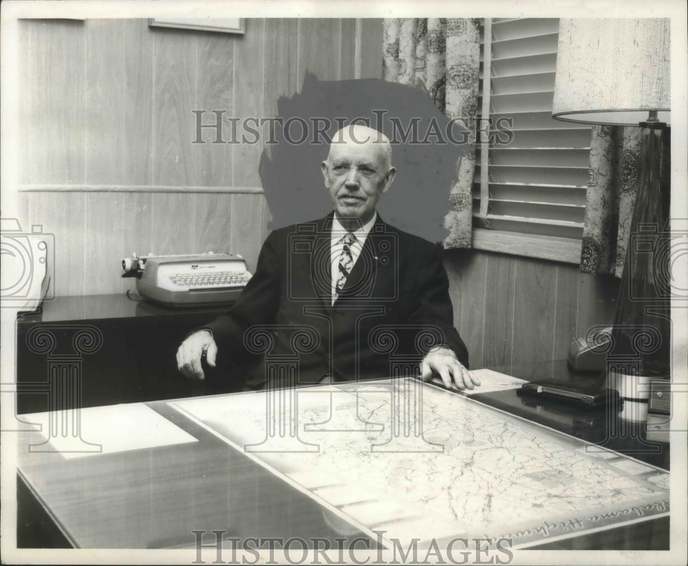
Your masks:
M619 282L577 265L477 250L444 265L473 368L566 359L572 337L614 318Z

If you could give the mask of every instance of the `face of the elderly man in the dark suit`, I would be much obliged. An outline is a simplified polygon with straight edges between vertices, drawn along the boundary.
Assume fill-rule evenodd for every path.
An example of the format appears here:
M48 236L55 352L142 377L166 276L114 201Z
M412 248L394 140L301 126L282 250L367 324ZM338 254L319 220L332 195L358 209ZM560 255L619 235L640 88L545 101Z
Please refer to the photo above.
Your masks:
M379 143L354 140L333 144L322 169L337 216L361 224L373 218L380 196L396 174L394 167L387 169L385 150Z

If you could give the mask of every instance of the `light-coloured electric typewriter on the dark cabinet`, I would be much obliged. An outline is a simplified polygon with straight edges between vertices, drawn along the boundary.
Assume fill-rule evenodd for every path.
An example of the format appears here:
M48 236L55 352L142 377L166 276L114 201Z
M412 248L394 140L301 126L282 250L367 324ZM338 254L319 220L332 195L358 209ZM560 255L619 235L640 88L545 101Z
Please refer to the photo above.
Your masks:
M173 307L233 302L250 280L241 255L202 253L146 255L122 260L122 277L136 277L136 291L152 302Z

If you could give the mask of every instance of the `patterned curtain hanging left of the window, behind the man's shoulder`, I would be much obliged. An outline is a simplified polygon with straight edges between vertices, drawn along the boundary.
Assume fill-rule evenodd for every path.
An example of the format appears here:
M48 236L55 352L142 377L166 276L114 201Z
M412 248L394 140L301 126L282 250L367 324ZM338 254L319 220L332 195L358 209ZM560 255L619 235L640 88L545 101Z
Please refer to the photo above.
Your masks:
M385 19L385 81L422 85L449 118L475 123L480 70L476 18ZM471 247L475 149L458 158L444 225L446 248Z

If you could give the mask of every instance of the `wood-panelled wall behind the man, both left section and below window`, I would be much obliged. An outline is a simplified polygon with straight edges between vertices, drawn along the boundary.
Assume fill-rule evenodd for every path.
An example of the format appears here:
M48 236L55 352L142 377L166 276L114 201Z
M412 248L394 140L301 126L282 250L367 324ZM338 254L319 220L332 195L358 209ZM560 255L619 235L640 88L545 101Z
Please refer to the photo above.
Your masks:
M45 189L20 193L21 216L56 235L58 295L131 288L119 275L132 251L232 251L253 269L270 216L252 192L262 147L193 145L191 109L275 116L306 70L381 76L379 20L363 20L358 49L347 19L251 19L245 36L146 20L24 21L20 32L19 182ZM475 368L561 359L572 336L613 316L616 282L574 265L475 250L448 251L446 265Z

